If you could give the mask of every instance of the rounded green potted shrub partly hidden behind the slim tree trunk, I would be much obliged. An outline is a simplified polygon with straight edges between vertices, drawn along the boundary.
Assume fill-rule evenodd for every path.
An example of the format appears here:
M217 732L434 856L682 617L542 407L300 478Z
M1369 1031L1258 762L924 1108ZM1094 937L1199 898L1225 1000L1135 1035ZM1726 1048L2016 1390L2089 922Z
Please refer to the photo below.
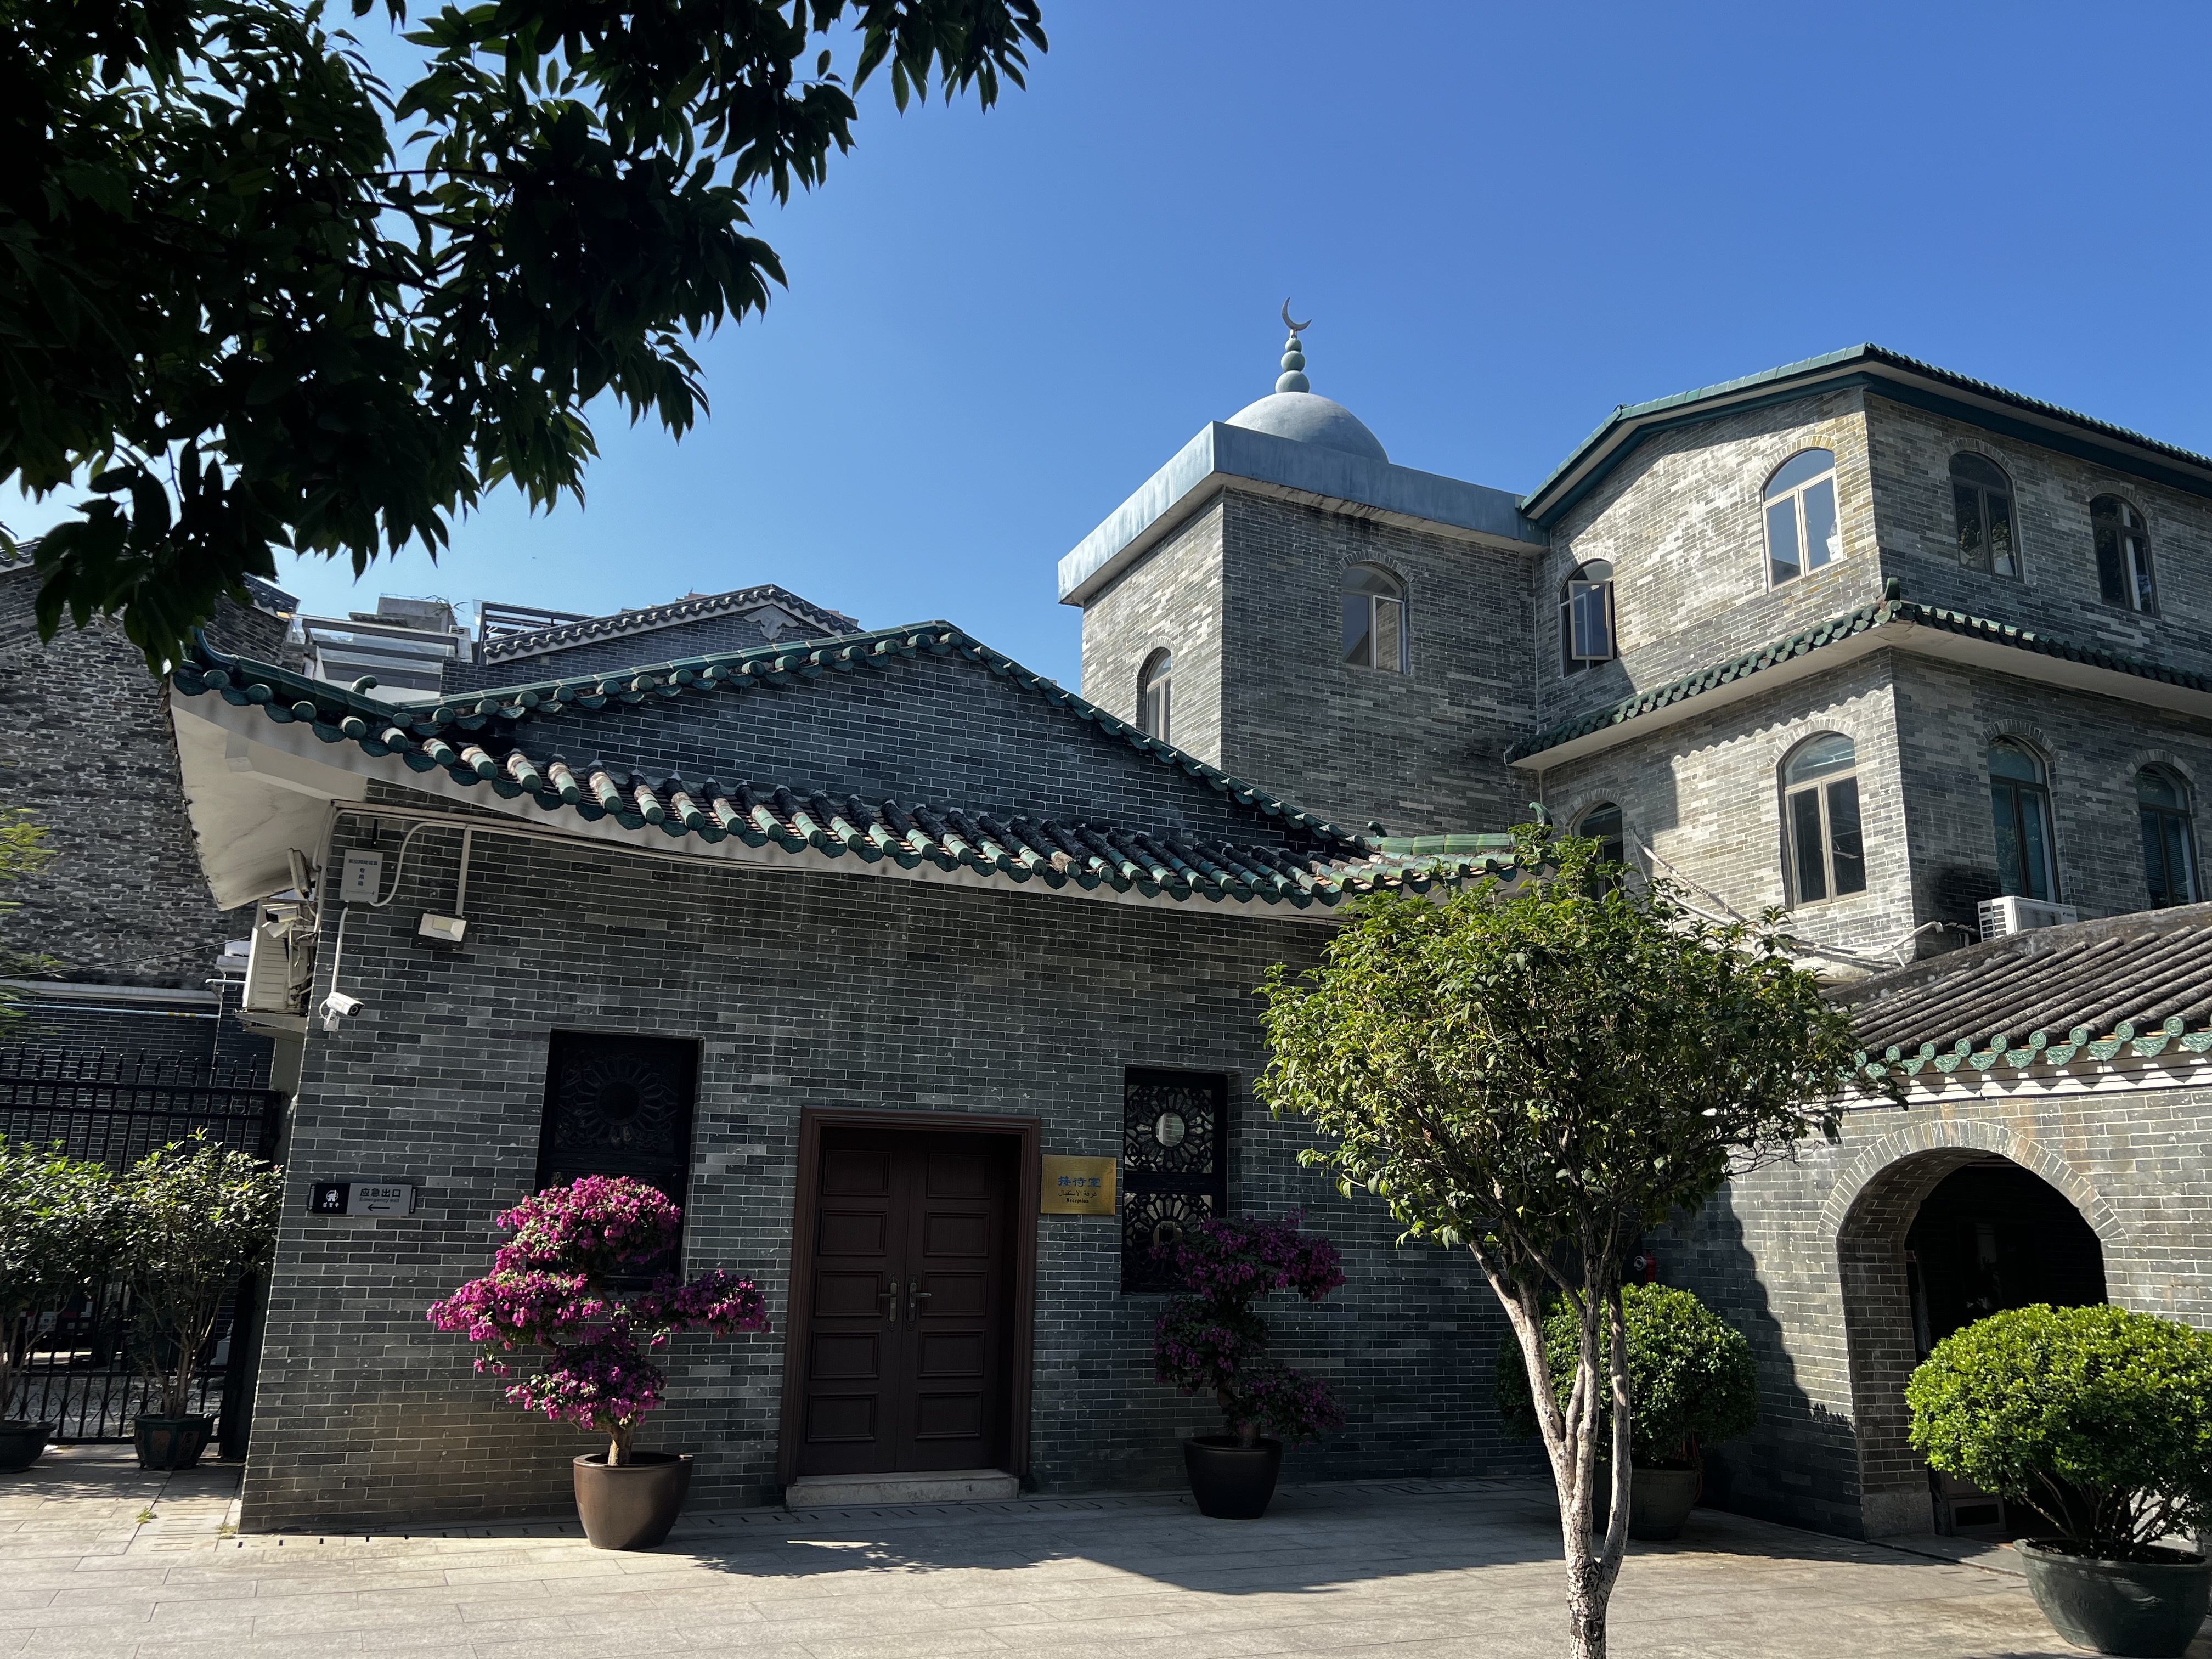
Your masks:
M1628 1535L1681 1537L1703 1480L1705 1444L1745 1433L1759 1420L1759 1363L1743 1332L1688 1290L1621 1285L1621 1323L1628 1338ZM1559 1310L1544 1321L1544 1354L1562 1405L1575 1380L1579 1343L1582 1321L1573 1312ZM1511 1433L1535 1436L1528 1367L1513 1345L1498 1354L1498 1413Z

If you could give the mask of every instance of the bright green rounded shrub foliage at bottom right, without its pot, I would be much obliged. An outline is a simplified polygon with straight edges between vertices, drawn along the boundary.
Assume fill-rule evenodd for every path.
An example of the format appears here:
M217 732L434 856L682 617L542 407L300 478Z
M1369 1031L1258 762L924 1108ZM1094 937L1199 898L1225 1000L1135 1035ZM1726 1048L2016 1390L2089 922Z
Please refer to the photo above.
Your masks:
M2212 1334L2124 1307L2013 1307L1905 1385L1913 1447L2028 1504L2084 1553L2212 1526Z

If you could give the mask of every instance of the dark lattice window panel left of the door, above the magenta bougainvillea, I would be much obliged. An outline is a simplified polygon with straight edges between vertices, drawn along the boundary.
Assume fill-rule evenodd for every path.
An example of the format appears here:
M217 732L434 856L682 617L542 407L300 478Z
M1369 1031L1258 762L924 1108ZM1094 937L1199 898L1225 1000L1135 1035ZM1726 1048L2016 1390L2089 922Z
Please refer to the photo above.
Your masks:
M555 1031L538 1190L584 1175L628 1175L684 1203L697 1082L699 1044Z

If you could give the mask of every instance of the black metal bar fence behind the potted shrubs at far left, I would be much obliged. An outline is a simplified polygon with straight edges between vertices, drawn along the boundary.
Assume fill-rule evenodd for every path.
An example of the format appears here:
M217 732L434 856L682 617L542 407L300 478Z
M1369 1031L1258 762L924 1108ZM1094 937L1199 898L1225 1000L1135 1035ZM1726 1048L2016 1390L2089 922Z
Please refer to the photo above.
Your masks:
M124 1170L170 1141L204 1133L254 1157L274 1157L283 1095L250 1071L175 1060L126 1060L55 1048L0 1048L0 1135L60 1146ZM246 1447L261 1287L246 1283L221 1312L215 1345L192 1380L190 1411L221 1418L226 1455ZM27 1352L0 1418L53 1422L58 1440L128 1440L131 1420L157 1409L133 1347L131 1285L111 1279L64 1307L40 1312L18 1338Z

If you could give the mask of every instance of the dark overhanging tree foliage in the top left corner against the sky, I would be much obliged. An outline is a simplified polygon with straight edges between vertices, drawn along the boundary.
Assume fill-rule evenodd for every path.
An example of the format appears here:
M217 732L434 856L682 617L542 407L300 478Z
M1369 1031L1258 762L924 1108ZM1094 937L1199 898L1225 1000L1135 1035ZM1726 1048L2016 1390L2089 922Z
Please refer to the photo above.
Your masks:
M405 0L380 7L394 24ZM445 4L389 91L325 0L0 0L0 482L86 487L38 622L148 664L274 549L420 542L511 482L582 498L586 405L681 436L686 341L768 303L768 190L854 93L1022 84L1037 0Z

